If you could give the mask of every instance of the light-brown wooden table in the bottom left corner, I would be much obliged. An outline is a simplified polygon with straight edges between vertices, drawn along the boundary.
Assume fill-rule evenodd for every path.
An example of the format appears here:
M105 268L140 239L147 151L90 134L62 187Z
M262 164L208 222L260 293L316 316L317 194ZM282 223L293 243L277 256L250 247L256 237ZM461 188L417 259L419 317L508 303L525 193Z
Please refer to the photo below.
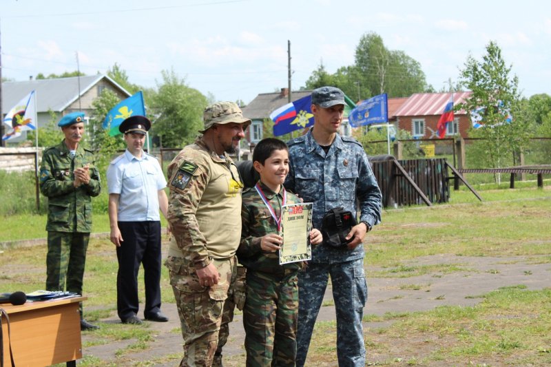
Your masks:
M15 366L50 366L82 358L79 302L86 297L0 304L10 317ZM11 366L8 323L2 317L4 366ZM1 347L1 346L0 346Z

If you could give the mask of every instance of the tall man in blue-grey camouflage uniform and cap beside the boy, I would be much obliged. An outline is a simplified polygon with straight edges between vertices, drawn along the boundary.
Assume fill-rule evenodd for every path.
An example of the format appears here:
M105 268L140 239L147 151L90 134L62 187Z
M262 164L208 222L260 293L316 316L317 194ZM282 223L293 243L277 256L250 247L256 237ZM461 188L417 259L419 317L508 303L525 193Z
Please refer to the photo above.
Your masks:
M306 361L329 275L337 314L339 366L365 365L362 317L367 284L362 242L380 223L382 196L362 145L337 134L344 104L344 93L335 87L314 90L313 128L288 143L291 162L285 187L304 202L313 202L313 227L321 229L324 213L335 207L352 213L360 210L359 224L346 236L352 239L347 248L315 247L306 271L299 273L297 366Z

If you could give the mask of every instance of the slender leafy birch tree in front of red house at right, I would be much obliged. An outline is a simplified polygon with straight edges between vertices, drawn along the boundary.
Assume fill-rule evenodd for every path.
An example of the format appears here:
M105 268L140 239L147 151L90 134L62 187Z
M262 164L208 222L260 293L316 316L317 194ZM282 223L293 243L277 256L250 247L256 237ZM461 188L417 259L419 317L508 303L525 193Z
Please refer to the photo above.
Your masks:
M486 46L482 61L468 56L460 72L461 84L472 94L457 109L481 111L483 127L471 131L470 136L484 138L484 153L490 167L503 167L510 158L514 162L517 152L526 147L528 141L527 118L521 113L517 76L510 77L512 66L507 66L501 56L501 49L494 41ZM512 115L512 122L507 123ZM499 176L497 176L499 182Z

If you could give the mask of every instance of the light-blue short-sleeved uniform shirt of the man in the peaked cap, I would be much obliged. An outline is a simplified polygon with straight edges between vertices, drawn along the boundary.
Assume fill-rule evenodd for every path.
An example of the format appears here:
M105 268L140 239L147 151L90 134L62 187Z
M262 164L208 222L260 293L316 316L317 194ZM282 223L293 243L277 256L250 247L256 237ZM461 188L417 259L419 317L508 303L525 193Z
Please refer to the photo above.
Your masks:
M142 152L136 158L128 150L107 169L109 193L118 193L118 222L160 220L158 191L167 180L154 156Z

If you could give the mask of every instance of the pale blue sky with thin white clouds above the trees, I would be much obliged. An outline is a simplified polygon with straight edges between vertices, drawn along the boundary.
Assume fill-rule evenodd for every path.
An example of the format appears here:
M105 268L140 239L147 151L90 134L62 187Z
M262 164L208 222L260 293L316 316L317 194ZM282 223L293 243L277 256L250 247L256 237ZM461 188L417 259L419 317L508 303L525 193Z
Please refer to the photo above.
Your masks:
M215 101L249 103L287 87L288 40L295 90L320 63L351 65L362 34L375 32L419 61L436 90L497 41L523 96L551 94L546 1L2 0L0 32L2 76L16 81L76 70L78 52L86 74L118 63L154 87L172 69Z

